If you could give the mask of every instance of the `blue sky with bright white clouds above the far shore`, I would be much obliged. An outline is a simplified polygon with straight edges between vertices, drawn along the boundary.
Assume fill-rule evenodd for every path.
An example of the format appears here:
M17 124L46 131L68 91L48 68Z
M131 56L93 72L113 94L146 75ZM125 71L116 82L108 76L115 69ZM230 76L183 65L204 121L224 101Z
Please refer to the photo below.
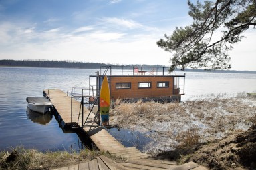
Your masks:
M0 59L170 66L156 42L192 21L186 0L0 0ZM255 30L233 70L256 71Z

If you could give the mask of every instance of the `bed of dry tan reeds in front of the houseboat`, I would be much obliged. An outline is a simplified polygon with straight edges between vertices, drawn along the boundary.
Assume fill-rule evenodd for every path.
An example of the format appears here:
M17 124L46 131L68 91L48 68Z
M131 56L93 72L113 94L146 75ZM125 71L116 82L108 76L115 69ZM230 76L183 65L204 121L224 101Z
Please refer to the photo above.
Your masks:
M246 93L226 99L211 95L184 103L118 101L111 111L110 123L148 133L154 144L147 151L163 151L247 130L256 115L255 101Z

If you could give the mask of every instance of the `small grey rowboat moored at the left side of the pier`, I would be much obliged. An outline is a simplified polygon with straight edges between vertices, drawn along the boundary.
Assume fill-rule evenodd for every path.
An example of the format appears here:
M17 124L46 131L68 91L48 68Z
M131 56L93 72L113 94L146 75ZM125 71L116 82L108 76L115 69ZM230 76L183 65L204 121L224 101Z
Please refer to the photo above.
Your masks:
M52 105L51 101L45 97L27 97L26 100L29 109L42 114L49 111L49 108Z

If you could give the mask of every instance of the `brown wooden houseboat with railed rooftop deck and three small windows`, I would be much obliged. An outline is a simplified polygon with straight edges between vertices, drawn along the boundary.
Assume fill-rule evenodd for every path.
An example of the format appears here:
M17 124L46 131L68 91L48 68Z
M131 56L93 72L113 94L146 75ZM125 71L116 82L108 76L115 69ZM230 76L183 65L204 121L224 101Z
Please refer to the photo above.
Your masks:
M90 76L96 77L96 89L100 89L104 75L108 77L112 101L119 98L170 102L180 101L184 95L185 75L170 75L166 67L101 67L96 76Z

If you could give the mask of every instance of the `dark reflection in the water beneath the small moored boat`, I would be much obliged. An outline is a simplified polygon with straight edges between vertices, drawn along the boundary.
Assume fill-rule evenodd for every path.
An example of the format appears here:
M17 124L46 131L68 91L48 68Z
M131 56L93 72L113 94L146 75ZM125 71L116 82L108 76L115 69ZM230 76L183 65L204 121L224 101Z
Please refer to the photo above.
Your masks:
M50 112L41 114L32 111L31 109L29 109L29 107L27 107L27 118L31 119L31 121L33 121L34 123L47 125L51 121L52 117L53 115Z

